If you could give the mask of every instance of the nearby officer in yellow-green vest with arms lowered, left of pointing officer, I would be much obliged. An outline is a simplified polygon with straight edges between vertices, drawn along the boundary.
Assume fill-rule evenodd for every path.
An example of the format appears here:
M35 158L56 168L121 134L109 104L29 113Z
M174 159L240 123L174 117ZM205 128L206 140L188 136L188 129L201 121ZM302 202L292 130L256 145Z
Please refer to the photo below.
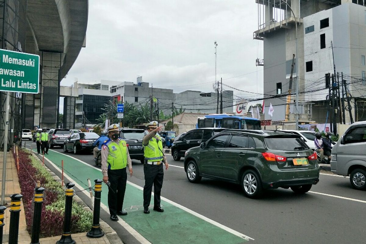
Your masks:
M112 124L107 132L109 139L102 144L103 181L108 185L108 207L113 221L117 215L127 215L122 211L124 192L126 191L126 166L132 177L132 164L126 141L119 138L119 125Z

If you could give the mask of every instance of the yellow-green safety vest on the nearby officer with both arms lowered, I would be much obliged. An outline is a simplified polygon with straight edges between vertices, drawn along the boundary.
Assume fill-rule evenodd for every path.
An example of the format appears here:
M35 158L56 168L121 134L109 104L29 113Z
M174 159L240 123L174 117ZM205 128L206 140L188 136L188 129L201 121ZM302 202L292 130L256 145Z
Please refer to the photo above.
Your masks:
M107 158L108 169L123 169L127 166L127 143L125 140L119 139L118 144L109 139L103 143L108 147L109 153Z

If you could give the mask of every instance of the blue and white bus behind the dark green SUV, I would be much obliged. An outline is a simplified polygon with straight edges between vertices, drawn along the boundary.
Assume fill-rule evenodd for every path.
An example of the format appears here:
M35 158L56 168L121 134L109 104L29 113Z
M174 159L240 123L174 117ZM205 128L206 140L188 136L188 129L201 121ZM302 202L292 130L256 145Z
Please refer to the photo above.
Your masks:
M261 129L261 121L251 117L213 114L197 118L196 128Z

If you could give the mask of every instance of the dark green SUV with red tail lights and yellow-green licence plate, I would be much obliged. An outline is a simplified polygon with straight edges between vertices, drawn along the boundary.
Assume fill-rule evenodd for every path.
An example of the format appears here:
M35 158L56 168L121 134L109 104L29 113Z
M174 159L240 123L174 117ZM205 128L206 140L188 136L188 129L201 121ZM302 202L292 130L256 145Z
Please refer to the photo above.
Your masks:
M242 185L257 198L263 189L308 192L319 182L316 153L299 135L281 131L225 130L186 151L184 170L190 182L202 177Z

